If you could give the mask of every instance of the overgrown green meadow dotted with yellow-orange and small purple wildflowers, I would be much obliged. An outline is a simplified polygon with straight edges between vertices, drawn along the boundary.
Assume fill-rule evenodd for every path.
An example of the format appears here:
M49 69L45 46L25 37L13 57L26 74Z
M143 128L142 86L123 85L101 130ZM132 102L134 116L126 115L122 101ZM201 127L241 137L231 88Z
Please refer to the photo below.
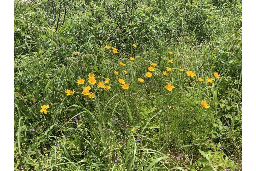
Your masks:
M14 170L241 163L241 1L14 1Z

